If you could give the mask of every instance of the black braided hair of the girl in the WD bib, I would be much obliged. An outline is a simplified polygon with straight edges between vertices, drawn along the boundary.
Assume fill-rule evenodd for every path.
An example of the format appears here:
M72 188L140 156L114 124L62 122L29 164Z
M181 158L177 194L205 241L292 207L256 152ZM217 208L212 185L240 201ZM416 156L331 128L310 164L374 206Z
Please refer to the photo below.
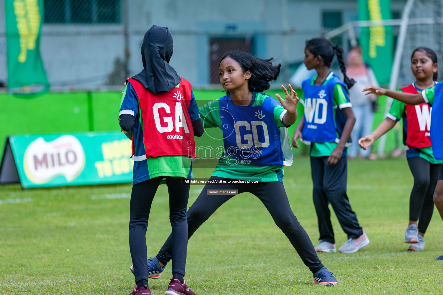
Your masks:
M343 58L344 50L342 46L334 45L325 38L314 38L306 41L306 49L309 50L311 54L314 54L314 57L322 57L323 64L327 67L331 66L335 51L335 54L337 54L338 64L340 65L340 69L342 70L344 77L343 82L345 82L345 84L348 86L348 89L355 84L354 79L350 79L348 76L346 76L346 65Z

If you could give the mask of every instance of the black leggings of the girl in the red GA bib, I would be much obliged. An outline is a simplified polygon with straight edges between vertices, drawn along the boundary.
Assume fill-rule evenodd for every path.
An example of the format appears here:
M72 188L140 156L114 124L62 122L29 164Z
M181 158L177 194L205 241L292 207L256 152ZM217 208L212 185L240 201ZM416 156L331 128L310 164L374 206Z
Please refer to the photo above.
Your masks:
M146 264L146 230L152 200L163 176L134 184L131 194L131 218L129 219L129 249L136 282L148 280ZM182 185L183 177L166 176L169 192L169 219L172 226L171 239L172 273L185 275L186 250L188 245L188 224L186 208L189 185Z

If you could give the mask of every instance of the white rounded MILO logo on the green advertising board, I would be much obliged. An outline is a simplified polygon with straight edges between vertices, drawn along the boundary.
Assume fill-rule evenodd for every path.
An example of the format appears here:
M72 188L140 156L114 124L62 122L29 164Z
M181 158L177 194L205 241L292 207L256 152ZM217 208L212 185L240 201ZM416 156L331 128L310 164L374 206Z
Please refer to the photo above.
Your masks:
M85 167L85 152L72 135L60 136L52 142L39 137L27 147L23 166L26 176L35 184L46 183L59 175L71 181Z

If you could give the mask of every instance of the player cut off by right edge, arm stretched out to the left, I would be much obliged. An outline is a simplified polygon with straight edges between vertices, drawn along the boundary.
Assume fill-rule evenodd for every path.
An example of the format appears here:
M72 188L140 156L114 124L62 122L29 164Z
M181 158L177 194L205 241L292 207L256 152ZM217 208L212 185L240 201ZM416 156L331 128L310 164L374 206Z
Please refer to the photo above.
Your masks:
M365 91L366 94L375 93L377 95L386 95L395 100L412 105L425 102L431 106L434 114L430 130L432 153L436 160L443 160L443 132L441 132L441 130L443 130L443 83L435 84L435 86L424 89L418 94L396 92L376 86L365 87L363 91ZM434 203L443 219L443 165L440 165L437 179L437 186L435 187L434 192ZM443 255L437 257L436 260L443 261Z

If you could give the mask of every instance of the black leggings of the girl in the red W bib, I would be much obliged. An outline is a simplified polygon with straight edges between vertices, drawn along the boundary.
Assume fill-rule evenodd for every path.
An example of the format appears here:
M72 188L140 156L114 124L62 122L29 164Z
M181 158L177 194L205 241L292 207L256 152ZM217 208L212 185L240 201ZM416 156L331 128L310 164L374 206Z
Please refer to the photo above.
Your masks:
M409 220L419 220L418 230L424 234L434 212L433 195L441 165L431 164L421 157L408 158L408 164L414 176L409 198Z

